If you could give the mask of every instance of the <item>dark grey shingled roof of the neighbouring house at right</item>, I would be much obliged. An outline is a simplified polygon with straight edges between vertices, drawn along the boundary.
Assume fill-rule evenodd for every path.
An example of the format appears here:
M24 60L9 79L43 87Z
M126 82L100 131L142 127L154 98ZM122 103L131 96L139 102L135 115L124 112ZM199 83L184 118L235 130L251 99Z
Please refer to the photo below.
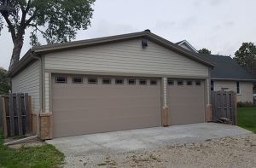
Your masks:
M256 81L243 67L236 63L230 56L203 55L202 59L217 65L211 70L211 78L214 80Z

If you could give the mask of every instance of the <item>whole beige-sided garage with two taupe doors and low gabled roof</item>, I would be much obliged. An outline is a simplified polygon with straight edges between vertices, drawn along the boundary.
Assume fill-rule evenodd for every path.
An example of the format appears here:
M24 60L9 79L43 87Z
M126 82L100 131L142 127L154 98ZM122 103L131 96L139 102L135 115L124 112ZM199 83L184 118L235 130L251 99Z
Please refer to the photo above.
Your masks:
M52 138L206 122L214 66L146 30L33 47L9 76Z

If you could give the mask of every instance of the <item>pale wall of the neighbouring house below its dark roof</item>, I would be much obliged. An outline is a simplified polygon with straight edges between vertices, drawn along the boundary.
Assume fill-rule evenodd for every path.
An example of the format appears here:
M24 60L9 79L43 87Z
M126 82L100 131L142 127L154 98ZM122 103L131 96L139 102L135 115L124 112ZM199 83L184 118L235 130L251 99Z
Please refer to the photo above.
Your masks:
M227 88L236 92L236 81L214 81L214 90ZM237 95L237 101L253 102L253 83L240 82L240 94Z

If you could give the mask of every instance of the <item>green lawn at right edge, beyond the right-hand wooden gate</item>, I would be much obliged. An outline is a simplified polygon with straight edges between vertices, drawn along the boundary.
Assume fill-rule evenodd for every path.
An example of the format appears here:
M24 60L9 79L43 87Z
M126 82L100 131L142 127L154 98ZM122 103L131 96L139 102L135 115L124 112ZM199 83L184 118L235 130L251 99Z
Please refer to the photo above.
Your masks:
M256 134L256 107L240 107L237 114L238 126Z

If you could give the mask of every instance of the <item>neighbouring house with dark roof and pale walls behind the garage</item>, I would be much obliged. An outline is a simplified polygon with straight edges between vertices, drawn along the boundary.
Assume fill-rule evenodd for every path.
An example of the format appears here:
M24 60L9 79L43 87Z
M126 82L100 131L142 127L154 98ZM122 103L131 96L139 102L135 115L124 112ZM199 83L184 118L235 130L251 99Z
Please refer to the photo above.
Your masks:
M186 40L177 44L184 49L198 53ZM237 94L237 101L253 102L253 82L256 80L243 67L237 64L230 56L199 55L206 61L216 65L211 70L211 90L233 90Z

